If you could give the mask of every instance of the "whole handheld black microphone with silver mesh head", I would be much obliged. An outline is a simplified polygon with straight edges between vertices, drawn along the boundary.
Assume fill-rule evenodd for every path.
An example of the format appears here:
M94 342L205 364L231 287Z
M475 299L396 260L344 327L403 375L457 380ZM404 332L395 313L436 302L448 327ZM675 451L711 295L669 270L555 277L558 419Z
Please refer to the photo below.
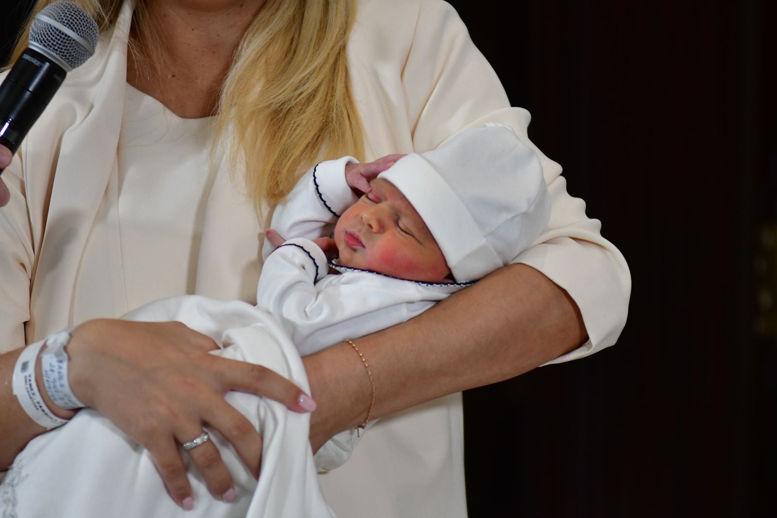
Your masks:
M68 72L92 57L98 37L97 23L70 0L35 16L29 46L0 85L0 144L19 149Z

